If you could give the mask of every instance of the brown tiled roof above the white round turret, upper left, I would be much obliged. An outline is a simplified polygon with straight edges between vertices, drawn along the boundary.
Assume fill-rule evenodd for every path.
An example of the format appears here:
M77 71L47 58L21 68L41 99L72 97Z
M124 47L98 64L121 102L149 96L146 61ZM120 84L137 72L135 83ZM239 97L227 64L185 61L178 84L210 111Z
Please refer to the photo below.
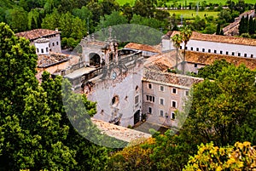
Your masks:
M32 31L18 32L15 35L17 37L25 37L26 39L29 39L29 40L35 40L40 37L46 37L49 35L55 35L59 33L60 33L59 31L52 31L49 29L35 29Z

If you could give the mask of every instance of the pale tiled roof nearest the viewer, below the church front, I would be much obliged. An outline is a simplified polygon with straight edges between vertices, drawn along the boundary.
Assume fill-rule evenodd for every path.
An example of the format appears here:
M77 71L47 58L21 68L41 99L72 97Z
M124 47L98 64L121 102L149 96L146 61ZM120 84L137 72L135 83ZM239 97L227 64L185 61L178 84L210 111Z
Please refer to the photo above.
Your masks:
M92 123L102 130L103 133L108 134L108 136L114 137L119 140L124 140L126 142L131 142L132 140L137 140L139 138L149 138L151 134L146 134L131 128L125 128L113 123L107 123L95 118L91 118Z

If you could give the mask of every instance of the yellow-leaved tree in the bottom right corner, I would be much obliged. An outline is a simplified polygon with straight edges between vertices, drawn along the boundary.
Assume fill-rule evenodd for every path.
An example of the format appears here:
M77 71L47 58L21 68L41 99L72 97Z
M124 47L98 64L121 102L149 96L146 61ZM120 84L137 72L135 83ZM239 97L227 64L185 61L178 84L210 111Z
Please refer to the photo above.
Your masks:
M189 159L184 171L193 170L253 170L256 148L250 142L218 147L213 143L198 146L198 153Z

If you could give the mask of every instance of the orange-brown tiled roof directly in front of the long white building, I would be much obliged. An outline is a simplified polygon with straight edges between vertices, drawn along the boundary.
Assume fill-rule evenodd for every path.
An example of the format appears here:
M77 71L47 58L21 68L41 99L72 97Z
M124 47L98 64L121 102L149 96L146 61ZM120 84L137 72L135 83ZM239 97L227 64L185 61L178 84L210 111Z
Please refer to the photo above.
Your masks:
M251 70L256 69L256 59L253 58L236 57L224 54L200 53L194 51L186 52L186 61L190 63L211 65L215 60L223 59L234 64L235 66L240 66L243 63Z

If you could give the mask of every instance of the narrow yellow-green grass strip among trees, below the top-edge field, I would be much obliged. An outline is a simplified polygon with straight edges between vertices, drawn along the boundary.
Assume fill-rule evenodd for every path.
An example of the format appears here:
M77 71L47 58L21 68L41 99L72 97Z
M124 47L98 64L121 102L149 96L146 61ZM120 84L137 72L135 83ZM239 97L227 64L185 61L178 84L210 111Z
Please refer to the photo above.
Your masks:
M183 15L183 18L185 18L185 19L194 18L195 15L196 15L196 11L195 11L195 10L169 10L169 13L170 13L171 15L175 13L177 16L180 16L180 15L182 14L182 15ZM199 12L198 12L198 15L199 15L201 18L204 18L205 15L206 15L206 16L213 16L213 17L215 18L215 17L218 17L218 13L219 13L219 12L199 11Z

